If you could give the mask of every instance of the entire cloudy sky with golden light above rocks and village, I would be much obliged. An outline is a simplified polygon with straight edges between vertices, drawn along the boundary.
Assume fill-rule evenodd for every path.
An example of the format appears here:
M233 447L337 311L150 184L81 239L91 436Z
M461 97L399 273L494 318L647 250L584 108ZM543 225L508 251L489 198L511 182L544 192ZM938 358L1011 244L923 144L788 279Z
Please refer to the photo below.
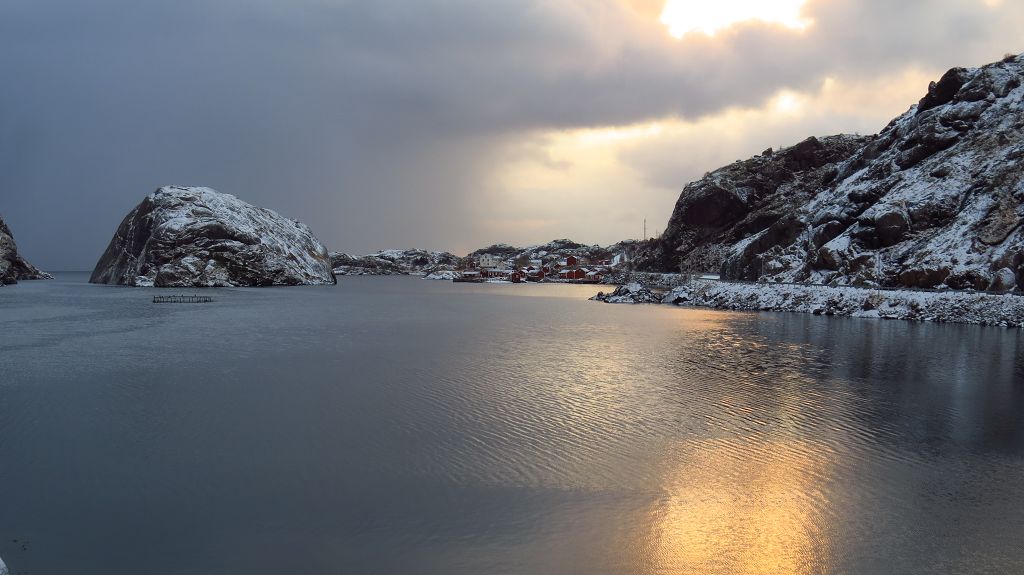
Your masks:
M1022 28L1017 0L3 0L0 215L49 270L169 184L352 254L607 245Z

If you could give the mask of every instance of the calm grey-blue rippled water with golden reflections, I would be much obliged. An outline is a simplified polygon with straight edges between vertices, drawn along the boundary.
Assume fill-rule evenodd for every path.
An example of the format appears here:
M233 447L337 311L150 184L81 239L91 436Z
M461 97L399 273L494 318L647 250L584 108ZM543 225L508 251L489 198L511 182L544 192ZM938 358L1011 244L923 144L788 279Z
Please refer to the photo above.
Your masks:
M1024 572L1019 330L86 278L0 289L13 575Z

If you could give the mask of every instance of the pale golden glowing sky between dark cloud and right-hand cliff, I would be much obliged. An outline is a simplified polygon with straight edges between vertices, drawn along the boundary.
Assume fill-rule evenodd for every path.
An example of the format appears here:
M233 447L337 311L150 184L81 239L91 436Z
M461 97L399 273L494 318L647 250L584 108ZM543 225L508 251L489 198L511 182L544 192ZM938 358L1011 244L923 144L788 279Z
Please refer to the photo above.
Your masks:
M662 229L679 190L709 170L812 134L874 133L935 78L918 69L871 81L829 77L778 90L756 107L530 134L508 149L473 208L499 237L638 238L645 218L648 231ZM596 221L609 223L597 230Z

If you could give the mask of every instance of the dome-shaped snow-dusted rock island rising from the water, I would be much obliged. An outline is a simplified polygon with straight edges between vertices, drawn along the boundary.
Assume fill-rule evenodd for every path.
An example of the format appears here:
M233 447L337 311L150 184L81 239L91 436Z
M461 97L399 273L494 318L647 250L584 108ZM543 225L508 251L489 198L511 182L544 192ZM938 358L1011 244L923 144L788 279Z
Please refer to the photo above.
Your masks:
M122 285L334 283L304 224L206 187L162 187L129 213L90 281Z

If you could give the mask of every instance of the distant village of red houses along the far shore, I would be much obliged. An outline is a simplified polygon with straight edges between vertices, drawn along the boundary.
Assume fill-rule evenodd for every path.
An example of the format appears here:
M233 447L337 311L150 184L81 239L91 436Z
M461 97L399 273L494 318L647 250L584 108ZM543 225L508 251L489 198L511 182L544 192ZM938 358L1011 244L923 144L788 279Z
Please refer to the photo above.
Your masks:
M452 281L456 282L496 282L508 281L521 283L524 281L555 281L562 283L600 283L604 276L616 267L627 264L626 253L611 259L589 260L582 256L568 255L564 258L529 259L520 256L514 260L481 254L465 261L466 268L456 272Z

